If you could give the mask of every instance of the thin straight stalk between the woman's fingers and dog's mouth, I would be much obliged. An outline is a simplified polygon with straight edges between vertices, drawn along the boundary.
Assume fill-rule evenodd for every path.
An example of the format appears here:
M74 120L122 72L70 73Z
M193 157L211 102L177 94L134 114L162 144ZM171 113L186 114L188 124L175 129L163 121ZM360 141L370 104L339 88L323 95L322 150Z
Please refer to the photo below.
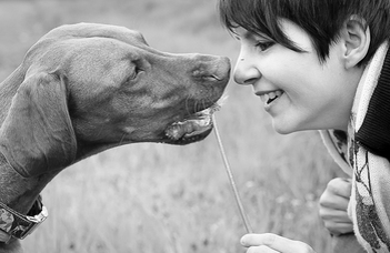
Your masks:
M219 135L219 131L218 131L217 120L216 120L216 117L213 114L212 114L212 121L213 121L213 125L214 125L214 133L216 133L217 142L218 142L218 145L219 145L219 150L221 151L221 155L222 155L222 160L223 160L223 163L224 163L224 168L226 168L226 171L228 173L230 185L231 185L231 188L233 190L233 193L234 193L234 199L236 199L237 205L239 208L243 225L246 226L246 230L247 230L248 233L252 233L252 229L251 229L251 226L250 226L250 224L248 222L248 217L246 215L246 211L243 210L243 205L241 203L240 194L239 194L239 192L237 190L237 186L236 186L233 173L232 173L232 171L230 169L228 158L227 158L227 155L224 153L224 149L223 149L223 144L222 144L222 141L221 141L221 136Z

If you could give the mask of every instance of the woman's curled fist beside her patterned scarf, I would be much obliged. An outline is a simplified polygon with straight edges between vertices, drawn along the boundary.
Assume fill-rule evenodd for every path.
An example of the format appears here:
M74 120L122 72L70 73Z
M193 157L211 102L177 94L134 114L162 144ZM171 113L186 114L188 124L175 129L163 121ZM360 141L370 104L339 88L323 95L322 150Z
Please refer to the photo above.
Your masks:
M320 198L320 216L324 226L334 235L353 231L347 209L351 196L351 181L337 178L328 183Z

